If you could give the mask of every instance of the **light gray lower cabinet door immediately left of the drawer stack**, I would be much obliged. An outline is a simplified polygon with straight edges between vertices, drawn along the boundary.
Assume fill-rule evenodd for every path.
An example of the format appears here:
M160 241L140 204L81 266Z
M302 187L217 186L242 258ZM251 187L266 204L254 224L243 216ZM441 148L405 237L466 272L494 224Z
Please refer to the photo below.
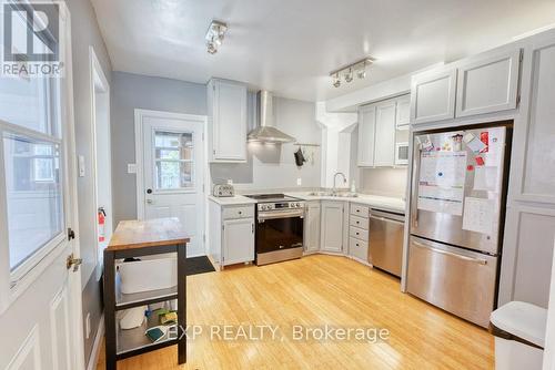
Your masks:
M321 249L324 251L342 253L344 203L323 201L321 209Z

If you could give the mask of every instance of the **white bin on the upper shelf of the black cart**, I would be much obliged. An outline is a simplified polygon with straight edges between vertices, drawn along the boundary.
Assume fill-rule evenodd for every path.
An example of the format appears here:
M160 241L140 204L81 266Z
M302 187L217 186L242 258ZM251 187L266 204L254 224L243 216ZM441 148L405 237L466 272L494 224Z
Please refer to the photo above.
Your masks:
M169 289L178 285L178 256L175 254L145 256L142 260L121 263L118 266L120 289L124 295Z

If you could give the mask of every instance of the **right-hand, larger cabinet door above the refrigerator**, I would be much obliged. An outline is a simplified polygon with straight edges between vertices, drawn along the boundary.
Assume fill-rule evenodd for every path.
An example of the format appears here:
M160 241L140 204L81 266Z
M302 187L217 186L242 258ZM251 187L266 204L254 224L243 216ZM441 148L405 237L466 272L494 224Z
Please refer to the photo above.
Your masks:
M463 62L457 72L456 116L516 107L521 50L494 51Z

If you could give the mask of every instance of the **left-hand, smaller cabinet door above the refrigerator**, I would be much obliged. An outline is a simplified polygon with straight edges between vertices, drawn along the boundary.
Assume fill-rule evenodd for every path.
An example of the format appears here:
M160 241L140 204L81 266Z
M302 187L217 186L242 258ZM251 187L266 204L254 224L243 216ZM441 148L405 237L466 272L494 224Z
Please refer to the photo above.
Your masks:
M413 124L455 117L456 69L447 68L413 76L411 122Z

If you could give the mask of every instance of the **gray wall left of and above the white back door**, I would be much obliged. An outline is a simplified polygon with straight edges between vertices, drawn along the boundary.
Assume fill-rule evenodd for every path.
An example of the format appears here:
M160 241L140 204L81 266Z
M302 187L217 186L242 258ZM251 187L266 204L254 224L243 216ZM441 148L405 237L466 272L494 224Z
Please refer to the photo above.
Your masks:
M134 110L205 115L206 88L125 72L113 72L112 81L112 196L118 225L137 218L137 177L128 174L128 163L135 163Z

